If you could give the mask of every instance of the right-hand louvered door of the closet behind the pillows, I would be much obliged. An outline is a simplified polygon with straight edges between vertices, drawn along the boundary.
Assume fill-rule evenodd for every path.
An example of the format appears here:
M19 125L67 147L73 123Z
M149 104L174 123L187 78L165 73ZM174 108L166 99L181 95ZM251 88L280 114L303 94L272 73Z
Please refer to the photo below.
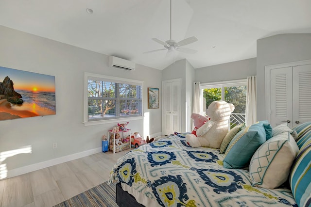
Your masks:
M293 67L293 125L311 121L311 64Z

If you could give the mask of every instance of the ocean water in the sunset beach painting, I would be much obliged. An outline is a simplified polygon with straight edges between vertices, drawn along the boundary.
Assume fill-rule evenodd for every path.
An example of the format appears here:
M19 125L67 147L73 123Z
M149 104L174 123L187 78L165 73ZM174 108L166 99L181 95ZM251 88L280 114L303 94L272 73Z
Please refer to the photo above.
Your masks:
M41 108L50 109L55 111L55 93L51 92L38 92L38 91L22 91L17 90L24 101L24 103L36 104Z

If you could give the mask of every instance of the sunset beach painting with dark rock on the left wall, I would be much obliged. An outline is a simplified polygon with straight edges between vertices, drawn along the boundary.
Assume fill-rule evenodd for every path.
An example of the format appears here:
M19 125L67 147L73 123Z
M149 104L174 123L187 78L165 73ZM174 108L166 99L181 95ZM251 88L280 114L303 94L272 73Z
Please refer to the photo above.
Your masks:
M52 114L54 76L0 66L0 120Z

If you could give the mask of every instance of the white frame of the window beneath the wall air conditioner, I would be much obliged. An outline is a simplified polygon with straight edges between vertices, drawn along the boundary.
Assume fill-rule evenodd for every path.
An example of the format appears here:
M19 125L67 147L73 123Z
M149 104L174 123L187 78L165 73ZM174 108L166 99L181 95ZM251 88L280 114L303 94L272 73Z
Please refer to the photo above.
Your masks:
M123 84L133 84L133 85L141 85L141 93L142 93L142 99L141 99L141 115L138 116L131 116L131 117L116 117L111 119L105 119L105 120L96 120L96 121L88 121L88 88L87 83L88 80L110 80L113 82L123 83ZM83 123L84 126L92 126L92 125L98 125L98 124L107 124L107 123L119 123L119 122L126 122L126 121L132 121L132 120L139 120L143 119L143 106L144 106L144 81L141 80L131 80L131 79L123 79L119 77L113 77L113 76L105 76L95 73L84 73L84 118ZM116 106L117 107L117 106Z

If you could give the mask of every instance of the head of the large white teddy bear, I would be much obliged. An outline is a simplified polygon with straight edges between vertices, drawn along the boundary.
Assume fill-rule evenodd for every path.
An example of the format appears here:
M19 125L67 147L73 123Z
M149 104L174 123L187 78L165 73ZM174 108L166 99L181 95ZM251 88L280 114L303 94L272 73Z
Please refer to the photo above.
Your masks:
M209 104L206 113L213 121L229 120L234 105L225 101L213 101Z

